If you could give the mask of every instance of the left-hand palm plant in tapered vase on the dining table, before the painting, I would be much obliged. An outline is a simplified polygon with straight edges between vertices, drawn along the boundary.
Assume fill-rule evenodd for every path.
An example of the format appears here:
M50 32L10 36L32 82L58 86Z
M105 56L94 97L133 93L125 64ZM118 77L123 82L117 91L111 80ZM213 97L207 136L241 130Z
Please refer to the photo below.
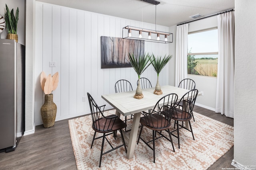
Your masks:
M143 94L142 94L142 88L140 87L140 75L146 70L146 68L148 68L148 66L154 60L150 60L150 55L149 54L144 54L142 56L135 57L134 54L129 53L128 57L129 57L129 60L130 60L129 61L130 64L134 68L135 72L138 74L138 80L139 80L134 98L142 99Z

